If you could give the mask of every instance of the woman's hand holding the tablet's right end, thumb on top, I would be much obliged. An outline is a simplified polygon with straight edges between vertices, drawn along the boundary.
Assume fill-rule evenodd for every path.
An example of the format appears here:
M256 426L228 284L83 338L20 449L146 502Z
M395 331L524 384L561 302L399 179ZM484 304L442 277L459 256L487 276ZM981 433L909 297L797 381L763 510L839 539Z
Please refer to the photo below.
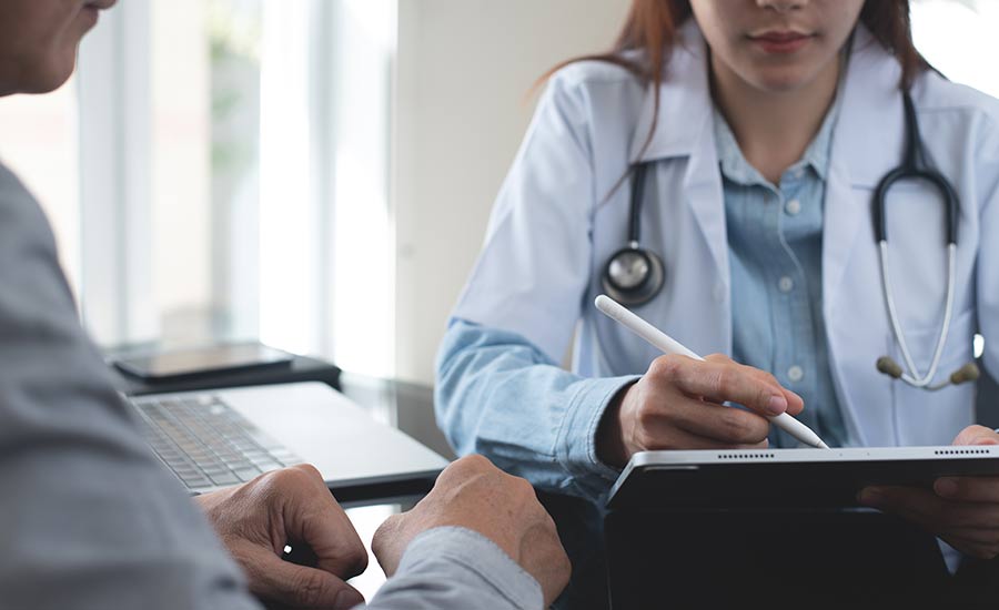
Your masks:
M982 426L961 430L955 445L999 445L999 434ZM942 538L965 555L999 555L999 477L946 477L934 490L868 487L860 501L891 512Z

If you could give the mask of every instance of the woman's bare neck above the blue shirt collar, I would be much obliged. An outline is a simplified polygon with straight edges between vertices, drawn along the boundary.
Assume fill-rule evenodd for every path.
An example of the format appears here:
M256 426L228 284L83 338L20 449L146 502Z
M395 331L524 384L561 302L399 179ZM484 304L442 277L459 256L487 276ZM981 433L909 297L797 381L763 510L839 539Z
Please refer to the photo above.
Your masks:
M743 155L774 184L795 164L821 128L836 98L842 59L793 91L754 88L712 55L712 94Z

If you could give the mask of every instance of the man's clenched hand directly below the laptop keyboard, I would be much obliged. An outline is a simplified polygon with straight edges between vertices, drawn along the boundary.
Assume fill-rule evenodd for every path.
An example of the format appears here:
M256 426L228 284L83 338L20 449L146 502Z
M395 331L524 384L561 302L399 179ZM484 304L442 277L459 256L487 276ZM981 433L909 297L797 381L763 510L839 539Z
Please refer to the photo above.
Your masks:
M367 567L367 552L312 466L262 475L195 498L259 598L293 608L353 608L364 598L344 580ZM306 545L315 567L282 559Z

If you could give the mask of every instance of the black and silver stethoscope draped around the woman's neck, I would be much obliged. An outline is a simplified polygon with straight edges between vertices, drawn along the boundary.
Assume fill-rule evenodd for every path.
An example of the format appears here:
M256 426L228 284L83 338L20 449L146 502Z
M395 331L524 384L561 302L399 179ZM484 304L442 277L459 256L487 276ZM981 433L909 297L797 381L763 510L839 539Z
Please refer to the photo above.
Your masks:
M937 390L949 385L972 382L979 377L975 363L968 363L955 370L945 382L934 384L944 346L950 333L950 322L953 315L955 266L957 261L957 218L958 196L950 182L934 169L927 156L919 136L919 124L916 119L916 109L908 91L902 92L906 120L906 152L902 164L889 171L878 183L874 193L872 212L875 237L878 244L878 256L881 265L881 285L885 292L885 302L888 307L888 317L891 322L891 331L902 355L906 368L902 369L890 356L878 358L877 368L896 379L901 379L910 386ZM632 180L632 194L628 211L628 242L627 245L614 254L604 266L604 291L618 303L633 307L644 305L662 292L666 283L666 273L663 260L654 252L644 248L639 244L642 202L645 190L645 181L648 166L652 161L638 162L632 165L629 173ZM888 273L888 234L886 230L885 203L888 190L902 180L924 180L932 184L939 192L947 210L947 295L945 297L944 321L940 325L932 360L925 374L920 374L909 352L906 335L898 321L895 306L895 296L891 289L891 277Z

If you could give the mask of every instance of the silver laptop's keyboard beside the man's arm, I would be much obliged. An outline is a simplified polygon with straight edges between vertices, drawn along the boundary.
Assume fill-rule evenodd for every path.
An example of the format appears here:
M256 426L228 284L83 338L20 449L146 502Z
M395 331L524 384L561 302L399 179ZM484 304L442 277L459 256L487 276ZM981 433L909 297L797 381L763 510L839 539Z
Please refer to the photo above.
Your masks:
M238 485L302 462L218 396L129 400L147 443L191 490Z

